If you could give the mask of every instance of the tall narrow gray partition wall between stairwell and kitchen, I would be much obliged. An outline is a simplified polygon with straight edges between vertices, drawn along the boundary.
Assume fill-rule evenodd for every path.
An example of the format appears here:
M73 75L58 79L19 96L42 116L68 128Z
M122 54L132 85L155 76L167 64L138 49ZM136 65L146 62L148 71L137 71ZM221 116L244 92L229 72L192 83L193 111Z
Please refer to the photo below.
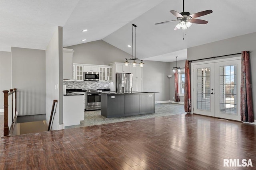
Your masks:
M45 53L46 122L49 123L53 100L58 100L52 123L52 130L56 130L58 123L63 124L62 27L56 29Z

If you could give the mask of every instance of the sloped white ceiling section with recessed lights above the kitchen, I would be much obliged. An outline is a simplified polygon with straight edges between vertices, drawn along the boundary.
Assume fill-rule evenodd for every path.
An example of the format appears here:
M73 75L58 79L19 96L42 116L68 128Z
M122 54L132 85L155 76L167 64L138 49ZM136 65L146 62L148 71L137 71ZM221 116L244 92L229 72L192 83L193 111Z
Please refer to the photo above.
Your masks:
M80 0L63 27L63 46L103 39L160 2Z

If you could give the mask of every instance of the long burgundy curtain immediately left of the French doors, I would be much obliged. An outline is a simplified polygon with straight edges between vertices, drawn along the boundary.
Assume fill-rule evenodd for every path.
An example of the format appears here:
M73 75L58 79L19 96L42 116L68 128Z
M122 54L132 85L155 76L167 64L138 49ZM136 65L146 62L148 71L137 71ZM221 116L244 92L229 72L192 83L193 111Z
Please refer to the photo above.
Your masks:
M185 63L185 94L184 94L184 110L191 111L191 93L190 93L190 75L189 75L189 61Z

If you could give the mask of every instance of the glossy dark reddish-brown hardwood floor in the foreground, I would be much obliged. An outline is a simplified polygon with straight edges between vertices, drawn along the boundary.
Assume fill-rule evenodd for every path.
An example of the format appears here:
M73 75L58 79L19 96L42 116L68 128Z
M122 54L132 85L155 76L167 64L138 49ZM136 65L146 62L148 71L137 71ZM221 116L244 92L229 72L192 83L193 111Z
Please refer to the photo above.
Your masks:
M256 126L171 115L2 138L0 169L256 169ZM223 167L223 159L254 167Z

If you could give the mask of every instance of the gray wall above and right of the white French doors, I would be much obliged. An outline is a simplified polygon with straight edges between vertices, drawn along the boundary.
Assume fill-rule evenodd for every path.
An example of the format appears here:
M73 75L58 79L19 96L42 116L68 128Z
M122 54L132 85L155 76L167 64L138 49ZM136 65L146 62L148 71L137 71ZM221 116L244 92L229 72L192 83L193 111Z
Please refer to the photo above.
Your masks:
M251 52L250 62L251 62L251 73L252 73L251 74L252 75L252 98L253 98L253 105L254 105L253 106L254 119L256 119L256 76L255 76L256 32L188 48L188 60L203 59L203 58L220 56L220 55L241 53L241 51ZM241 56L241 55L233 55L230 57L238 57L238 56ZM217 58L217 59L220 59L220 58Z

